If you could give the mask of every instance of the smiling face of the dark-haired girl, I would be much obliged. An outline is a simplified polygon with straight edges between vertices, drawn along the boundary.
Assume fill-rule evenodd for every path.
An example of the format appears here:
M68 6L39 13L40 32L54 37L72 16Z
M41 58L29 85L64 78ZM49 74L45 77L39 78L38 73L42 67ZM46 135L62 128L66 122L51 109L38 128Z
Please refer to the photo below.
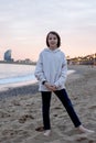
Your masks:
M49 42L51 50L57 48L57 37L56 37L56 35L49 34L47 42Z

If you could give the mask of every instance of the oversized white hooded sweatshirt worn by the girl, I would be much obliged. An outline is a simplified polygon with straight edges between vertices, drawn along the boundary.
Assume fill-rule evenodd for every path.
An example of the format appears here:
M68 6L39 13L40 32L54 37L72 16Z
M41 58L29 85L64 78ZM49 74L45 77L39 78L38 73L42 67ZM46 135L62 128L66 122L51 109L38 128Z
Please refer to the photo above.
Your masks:
M55 85L57 90L65 88L67 63L64 53L60 48L54 51L44 48L40 54L34 75L40 81L39 91L50 91L42 85L44 80Z

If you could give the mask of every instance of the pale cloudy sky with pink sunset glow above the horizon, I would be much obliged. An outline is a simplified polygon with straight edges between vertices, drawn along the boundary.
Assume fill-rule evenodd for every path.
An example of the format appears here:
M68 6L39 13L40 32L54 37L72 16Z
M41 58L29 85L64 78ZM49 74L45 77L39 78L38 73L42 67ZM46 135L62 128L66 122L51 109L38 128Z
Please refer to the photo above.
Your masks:
M56 31L66 56L96 53L96 0L0 0L0 59L36 61Z

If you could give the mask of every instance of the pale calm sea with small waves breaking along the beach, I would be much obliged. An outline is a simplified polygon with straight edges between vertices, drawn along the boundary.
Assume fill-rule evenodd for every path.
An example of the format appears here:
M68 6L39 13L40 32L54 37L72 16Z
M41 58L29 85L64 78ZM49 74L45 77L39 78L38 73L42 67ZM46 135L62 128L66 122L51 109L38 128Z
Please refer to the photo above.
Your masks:
M35 65L0 64L0 91L38 82L34 69ZM72 73L68 70L67 75Z

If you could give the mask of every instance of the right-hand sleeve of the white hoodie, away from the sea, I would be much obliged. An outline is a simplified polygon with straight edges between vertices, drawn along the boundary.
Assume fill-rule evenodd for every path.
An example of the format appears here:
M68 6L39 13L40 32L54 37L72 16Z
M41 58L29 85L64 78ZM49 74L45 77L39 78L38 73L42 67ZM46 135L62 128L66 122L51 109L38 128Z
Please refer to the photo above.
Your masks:
M62 85L65 84L67 77L67 62L65 58L65 55L63 56L63 64L62 64L62 69L61 69L61 75L58 80L55 81L56 87L61 87Z

